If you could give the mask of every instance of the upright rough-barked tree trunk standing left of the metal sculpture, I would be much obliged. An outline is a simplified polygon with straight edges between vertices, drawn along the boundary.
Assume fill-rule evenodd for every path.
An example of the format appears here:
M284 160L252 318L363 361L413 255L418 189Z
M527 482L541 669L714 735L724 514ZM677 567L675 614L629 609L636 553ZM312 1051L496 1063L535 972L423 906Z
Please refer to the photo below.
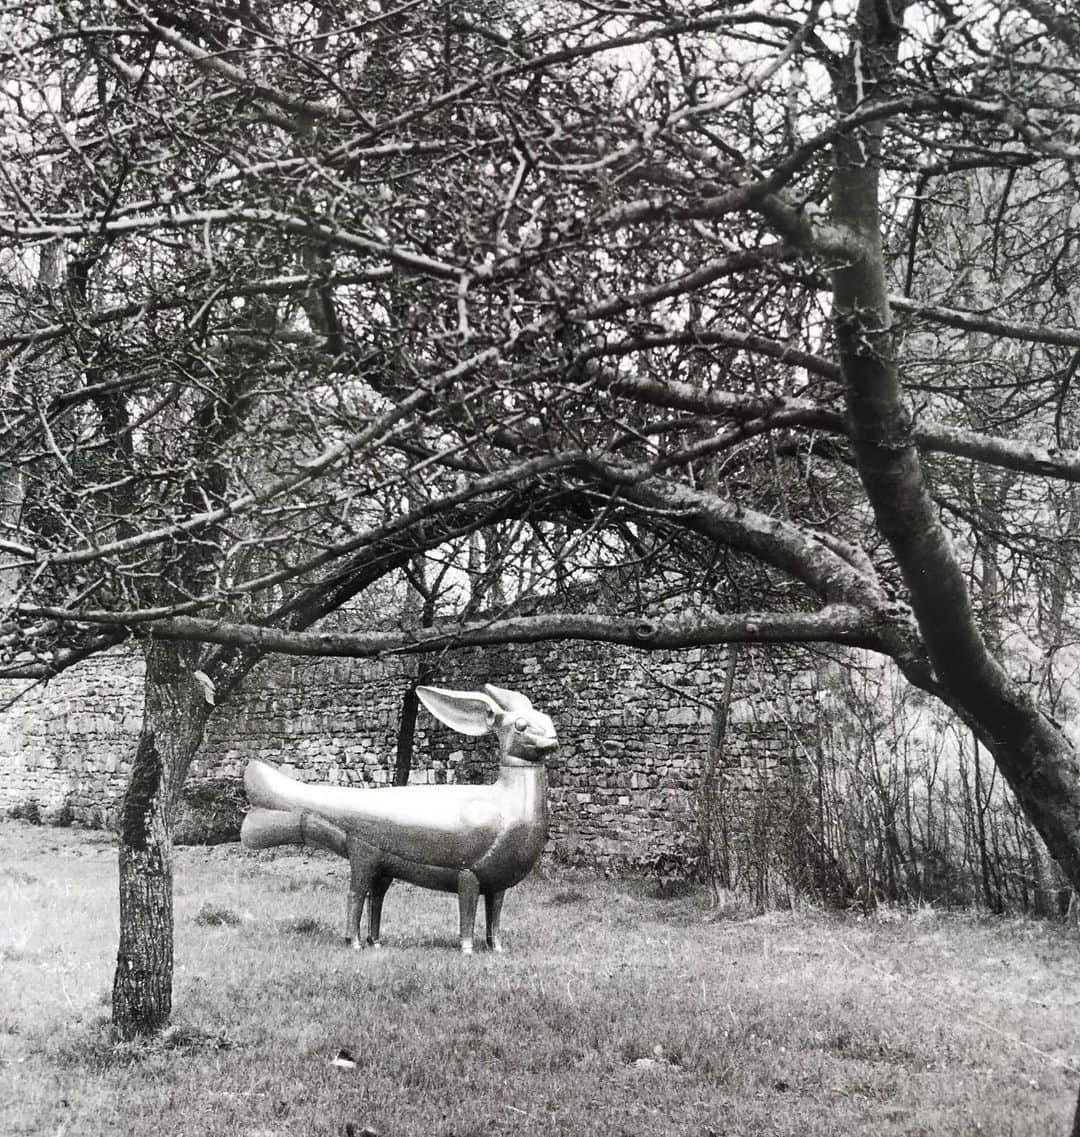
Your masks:
M173 816L210 706L194 679L197 648L147 649L142 730L121 816L121 941L113 1031L160 1030L173 1006Z

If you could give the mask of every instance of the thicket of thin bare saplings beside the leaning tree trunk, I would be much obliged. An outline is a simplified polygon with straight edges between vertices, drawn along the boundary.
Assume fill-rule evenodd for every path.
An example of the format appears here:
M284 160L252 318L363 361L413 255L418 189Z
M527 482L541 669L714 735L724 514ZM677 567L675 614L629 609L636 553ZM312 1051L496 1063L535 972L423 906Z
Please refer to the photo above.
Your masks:
M787 724L798 761L733 778L721 755L703 779L687 866L717 901L730 891L758 908L929 904L1077 919L1075 894L959 724L888 669L819 677L813 729L805 716ZM783 674L769 681L782 717Z

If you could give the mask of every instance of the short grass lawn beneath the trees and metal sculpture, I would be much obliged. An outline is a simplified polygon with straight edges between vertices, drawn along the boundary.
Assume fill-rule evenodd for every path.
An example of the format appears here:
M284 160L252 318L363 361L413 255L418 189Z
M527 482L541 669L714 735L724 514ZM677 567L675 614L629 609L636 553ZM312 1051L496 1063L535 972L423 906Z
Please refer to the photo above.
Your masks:
M106 835L0 823L5 1135L1069 1130L1074 931L560 877L509 894L506 955L460 957L452 897L400 885L385 947L352 953L343 862L184 848L174 1027L114 1045L115 862Z

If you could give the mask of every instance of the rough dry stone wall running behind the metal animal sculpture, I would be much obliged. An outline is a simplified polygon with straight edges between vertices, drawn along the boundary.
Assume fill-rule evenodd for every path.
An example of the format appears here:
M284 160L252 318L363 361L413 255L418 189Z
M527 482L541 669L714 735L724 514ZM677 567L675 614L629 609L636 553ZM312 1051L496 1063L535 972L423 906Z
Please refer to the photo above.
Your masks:
M726 791L794 761L812 730L814 673L742 649L724 749ZM384 786L417 661L276 658L211 719L190 785L231 779L265 758L306 780ZM723 649L639 653L603 644L513 645L425 661L425 681L525 692L555 720L549 853L610 871L678 871L699 839L701 771ZM115 821L141 714L142 663L114 653L33 688L0 712L0 812ZM0 684L0 705L27 684ZM782 691L782 698L781 698ZM797 737L801 736L801 737ZM488 738L456 735L421 711L412 781L495 777Z

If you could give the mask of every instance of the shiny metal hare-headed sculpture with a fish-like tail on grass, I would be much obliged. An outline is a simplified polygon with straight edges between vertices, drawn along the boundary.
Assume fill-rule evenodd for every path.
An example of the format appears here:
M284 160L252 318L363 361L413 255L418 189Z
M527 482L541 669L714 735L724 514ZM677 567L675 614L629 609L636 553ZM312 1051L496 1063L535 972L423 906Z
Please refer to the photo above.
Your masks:
M545 756L558 741L551 720L517 691L419 687L437 719L465 735L493 732L500 769L490 786L357 789L297 781L266 762L244 771L248 848L313 844L348 856L346 936L360 946L368 905L368 944L379 945L382 902L394 880L458 895L462 951L473 949L476 903L484 897L487 941L496 952L502 895L540 858L548 833Z

